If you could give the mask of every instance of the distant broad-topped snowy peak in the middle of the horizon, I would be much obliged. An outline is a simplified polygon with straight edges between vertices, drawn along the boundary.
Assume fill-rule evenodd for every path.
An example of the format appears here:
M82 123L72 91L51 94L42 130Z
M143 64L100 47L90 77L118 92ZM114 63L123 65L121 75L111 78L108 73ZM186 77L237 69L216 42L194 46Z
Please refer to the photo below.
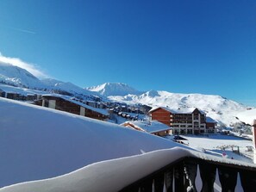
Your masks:
M127 96L128 94L141 94L141 91L135 90L134 88L128 86L128 84L122 83L105 83L94 87L85 88L85 90L97 92L102 96Z

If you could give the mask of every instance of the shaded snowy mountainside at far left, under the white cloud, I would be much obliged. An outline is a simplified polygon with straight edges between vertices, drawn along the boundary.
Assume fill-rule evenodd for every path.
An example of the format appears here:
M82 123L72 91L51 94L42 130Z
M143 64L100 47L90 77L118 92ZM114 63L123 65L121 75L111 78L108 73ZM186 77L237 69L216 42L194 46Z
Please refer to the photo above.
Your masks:
M0 82L19 87L42 88L41 81L30 72L8 63L0 62Z

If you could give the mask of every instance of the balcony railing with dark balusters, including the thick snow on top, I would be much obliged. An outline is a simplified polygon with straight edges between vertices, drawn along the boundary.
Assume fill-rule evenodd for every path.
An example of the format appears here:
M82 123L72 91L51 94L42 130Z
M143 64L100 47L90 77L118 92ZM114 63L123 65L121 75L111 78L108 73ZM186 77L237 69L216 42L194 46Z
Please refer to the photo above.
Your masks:
M250 191L255 180L254 164L174 147L90 164L64 176L18 183L0 192Z

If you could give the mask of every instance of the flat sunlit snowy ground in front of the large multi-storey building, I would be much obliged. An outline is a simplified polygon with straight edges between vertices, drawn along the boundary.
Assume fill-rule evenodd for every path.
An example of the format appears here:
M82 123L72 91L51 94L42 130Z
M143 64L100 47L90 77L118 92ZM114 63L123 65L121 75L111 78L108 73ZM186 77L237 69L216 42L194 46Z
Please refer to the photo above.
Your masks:
M205 152L217 157L234 158L235 160L253 163L253 152L247 151L247 146L253 146L252 140L222 134L213 134L208 136L181 136L188 139L184 143L188 143L191 148L196 149L199 152ZM169 137L169 139L172 139L172 136ZM233 152L231 146L234 146L234 151L238 150L239 147L240 154Z

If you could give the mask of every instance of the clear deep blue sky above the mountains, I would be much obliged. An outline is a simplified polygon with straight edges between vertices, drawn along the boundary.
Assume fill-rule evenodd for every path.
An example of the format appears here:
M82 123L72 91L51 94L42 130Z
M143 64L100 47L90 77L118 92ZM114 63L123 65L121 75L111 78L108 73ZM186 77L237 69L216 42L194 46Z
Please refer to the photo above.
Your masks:
M256 1L1 0L0 52L81 87L256 106Z

